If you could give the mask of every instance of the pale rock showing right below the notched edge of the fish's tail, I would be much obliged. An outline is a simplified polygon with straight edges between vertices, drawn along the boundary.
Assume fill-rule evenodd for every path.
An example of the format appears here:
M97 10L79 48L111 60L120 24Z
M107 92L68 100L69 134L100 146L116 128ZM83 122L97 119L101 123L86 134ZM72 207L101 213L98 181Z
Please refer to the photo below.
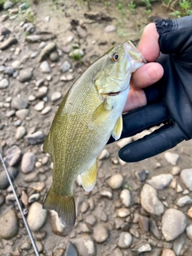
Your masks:
M58 214L54 210L50 210L50 226L54 234L62 236L66 236L71 231L70 228L67 228L66 226L62 225L62 222L60 222L58 218Z

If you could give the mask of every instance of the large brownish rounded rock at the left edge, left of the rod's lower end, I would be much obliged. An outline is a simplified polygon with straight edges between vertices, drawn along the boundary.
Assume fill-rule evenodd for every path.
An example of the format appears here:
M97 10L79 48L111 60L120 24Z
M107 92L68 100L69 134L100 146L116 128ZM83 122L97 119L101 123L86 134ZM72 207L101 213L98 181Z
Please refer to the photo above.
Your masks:
M18 218L14 210L8 210L0 216L0 238L11 239L18 233Z

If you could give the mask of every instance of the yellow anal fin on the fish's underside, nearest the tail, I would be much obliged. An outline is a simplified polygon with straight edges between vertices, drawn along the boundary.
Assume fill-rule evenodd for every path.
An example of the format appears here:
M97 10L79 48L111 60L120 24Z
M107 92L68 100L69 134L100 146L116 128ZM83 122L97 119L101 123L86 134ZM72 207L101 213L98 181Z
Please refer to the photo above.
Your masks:
M82 186L84 190L91 191L94 188L98 173L98 159L86 171L81 174Z

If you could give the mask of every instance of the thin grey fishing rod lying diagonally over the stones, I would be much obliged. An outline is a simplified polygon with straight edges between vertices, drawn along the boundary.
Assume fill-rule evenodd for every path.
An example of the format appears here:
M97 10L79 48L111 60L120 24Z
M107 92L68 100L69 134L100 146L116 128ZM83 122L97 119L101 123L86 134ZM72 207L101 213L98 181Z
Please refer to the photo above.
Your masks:
M29 227L28 223L26 222L26 217L25 217L25 215L24 215L24 213L23 213L23 211L22 211L22 206L20 205L20 202L19 202L19 200L18 200L18 196L17 196L17 194L16 194L16 191L14 190L13 182L11 181L10 174L9 174L7 168L6 168L6 164L5 164L5 162L4 162L3 158L2 158L1 152L0 152L0 159L1 159L1 161L2 161L2 166L3 166L4 170L6 171L6 176L7 176L7 178L8 178L8 181L10 182L10 186L11 186L13 192L14 192L14 197L15 197L16 202L17 202L17 204L18 204L18 209L20 210L20 212L21 212L21 214L22 214L22 219L23 219L23 222L24 222L24 224L25 224L25 226L26 226L26 231L27 231L27 233L29 234L31 244L32 244L32 246L34 247L34 252L35 252L36 256L39 256L38 248L37 248L36 243L35 243L35 241L34 241L34 237L33 237L33 235L32 235L31 232L30 232L30 227Z

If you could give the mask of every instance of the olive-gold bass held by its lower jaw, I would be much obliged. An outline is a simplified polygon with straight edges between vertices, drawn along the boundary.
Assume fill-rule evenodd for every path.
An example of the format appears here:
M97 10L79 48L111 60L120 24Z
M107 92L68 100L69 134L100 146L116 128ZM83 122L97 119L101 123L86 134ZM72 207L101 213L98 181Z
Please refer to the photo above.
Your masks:
M93 190L98 155L110 136L121 137L130 77L145 62L132 42L114 46L80 75L58 107L43 145L54 163L43 208L55 210L66 227L76 219L74 182L80 174L84 190Z

